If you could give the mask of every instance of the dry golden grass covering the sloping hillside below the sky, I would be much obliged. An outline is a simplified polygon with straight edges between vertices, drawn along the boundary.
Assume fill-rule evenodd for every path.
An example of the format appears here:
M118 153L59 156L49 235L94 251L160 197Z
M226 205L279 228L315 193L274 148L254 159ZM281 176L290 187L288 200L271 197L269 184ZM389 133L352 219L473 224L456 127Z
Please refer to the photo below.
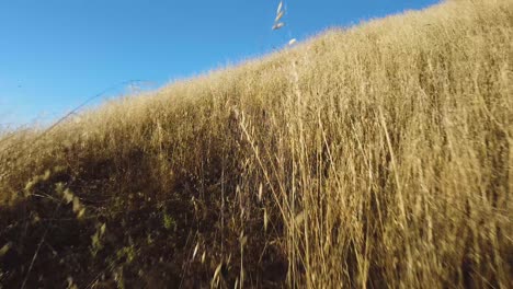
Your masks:
M513 1L0 137L0 288L512 288Z

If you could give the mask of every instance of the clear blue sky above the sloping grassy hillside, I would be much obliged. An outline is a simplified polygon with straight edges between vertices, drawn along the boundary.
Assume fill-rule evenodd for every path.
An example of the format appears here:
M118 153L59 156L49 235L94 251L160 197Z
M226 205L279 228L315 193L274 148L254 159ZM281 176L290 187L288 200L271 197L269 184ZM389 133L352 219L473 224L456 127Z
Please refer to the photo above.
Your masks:
M151 89L328 27L438 0L0 0L0 124L52 122L128 80ZM105 94L126 92L119 85Z

